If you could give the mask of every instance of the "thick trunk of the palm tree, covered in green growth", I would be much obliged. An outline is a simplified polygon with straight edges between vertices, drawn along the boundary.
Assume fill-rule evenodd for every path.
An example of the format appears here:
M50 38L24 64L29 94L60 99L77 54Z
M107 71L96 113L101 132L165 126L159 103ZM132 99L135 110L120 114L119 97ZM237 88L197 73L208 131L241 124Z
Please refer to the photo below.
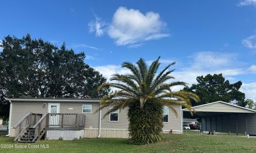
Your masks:
M135 145L157 142L162 138L163 106L153 100L147 100L143 107L140 101L129 107L129 135Z

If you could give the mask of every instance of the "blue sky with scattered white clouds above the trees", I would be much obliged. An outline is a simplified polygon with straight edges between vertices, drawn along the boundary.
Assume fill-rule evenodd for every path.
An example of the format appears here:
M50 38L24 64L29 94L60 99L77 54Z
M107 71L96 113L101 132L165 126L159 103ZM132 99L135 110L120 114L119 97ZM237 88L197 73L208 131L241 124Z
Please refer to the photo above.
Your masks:
M256 0L2 1L0 39L29 33L85 52L105 77L161 56L177 80L223 73L256 101ZM1 50L1 48L0 48Z

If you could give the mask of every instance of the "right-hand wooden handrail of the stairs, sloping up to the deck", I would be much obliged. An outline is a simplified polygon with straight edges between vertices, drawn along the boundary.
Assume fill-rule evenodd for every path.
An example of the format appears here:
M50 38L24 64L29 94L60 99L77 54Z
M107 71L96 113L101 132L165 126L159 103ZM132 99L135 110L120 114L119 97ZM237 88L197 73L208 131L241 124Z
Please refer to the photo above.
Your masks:
M43 114L43 116L32 127L33 129L35 129L35 131L34 131L35 137L33 139L33 142L35 142L36 139L37 139L37 141L39 141L42 138L43 135L41 135L41 132L43 131L43 129L46 130L46 126L47 126L47 120L46 120L47 114L48 113Z

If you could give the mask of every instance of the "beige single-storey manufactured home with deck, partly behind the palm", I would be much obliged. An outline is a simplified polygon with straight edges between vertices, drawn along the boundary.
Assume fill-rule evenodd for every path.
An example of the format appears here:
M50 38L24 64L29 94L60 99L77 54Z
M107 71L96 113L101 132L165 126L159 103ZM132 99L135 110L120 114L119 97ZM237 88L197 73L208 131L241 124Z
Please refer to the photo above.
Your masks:
M9 98L9 134L18 142L41 139L129 138L127 109L110 113L100 107L100 99ZM182 133L182 111L173 105L175 116L163 108L163 132Z

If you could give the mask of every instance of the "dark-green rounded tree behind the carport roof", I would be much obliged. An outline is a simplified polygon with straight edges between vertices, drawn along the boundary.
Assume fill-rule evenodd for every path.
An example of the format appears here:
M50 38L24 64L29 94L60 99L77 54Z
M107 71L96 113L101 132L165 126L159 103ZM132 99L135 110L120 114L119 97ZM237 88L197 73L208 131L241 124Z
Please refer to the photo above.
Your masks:
M238 106L245 107L245 94L239 89L242 82L230 83L222 77L222 74L207 74L205 77L196 78L197 83L190 88L185 87L184 90L197 94L201 103L192 103L193 106L212 103L214 101L225 101L227 103L235 103Z

